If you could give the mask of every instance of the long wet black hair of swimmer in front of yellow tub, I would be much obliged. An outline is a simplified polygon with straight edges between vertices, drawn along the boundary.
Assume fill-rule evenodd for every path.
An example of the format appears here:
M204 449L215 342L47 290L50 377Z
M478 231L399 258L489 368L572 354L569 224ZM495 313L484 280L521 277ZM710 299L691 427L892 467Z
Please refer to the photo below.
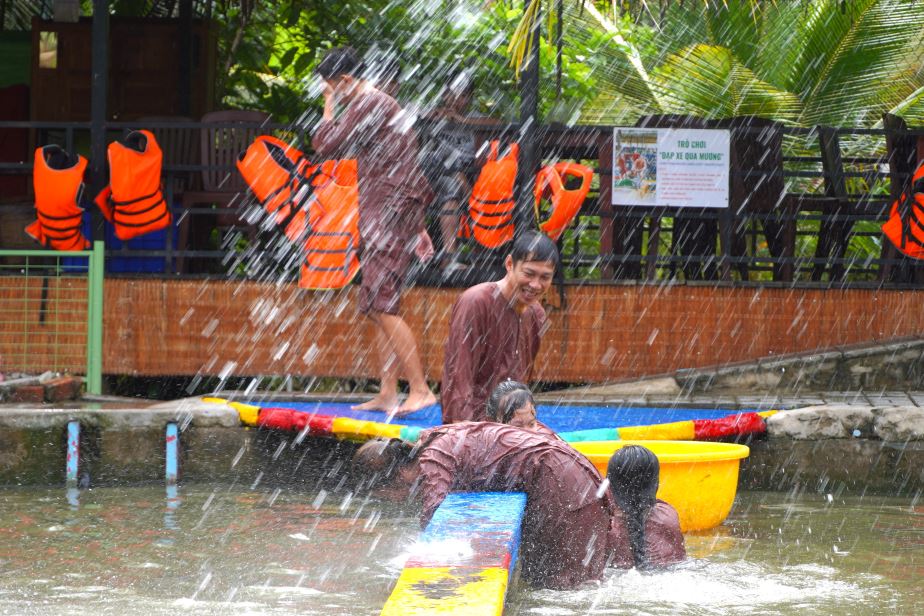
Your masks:
M627 445L613 454L606 468L616 505L625 514L636 567L644 567L648 561L645 522L655 504L660 467L658 457L650 449Z

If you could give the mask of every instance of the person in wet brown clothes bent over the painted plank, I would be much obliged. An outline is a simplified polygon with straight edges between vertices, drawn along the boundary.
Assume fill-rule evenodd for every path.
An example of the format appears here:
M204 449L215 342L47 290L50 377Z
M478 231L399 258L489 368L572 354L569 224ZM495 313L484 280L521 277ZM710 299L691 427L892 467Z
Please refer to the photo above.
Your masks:
M357 460L387 468L399 450L367 443ZM602 577L615 507L593 464L567 443L513 426L464 422L425 430L415 451L397 477L416 486L423 526L451 491L524 492L524 579L566 589Z

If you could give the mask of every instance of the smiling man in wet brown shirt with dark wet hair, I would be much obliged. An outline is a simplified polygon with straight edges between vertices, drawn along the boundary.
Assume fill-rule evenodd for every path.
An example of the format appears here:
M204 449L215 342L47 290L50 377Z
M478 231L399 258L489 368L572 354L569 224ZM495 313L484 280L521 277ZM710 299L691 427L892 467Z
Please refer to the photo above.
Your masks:
M526 381L545 330L541 300L558 267L558 249L530 231L514 240L506 276L467 289L452 308L440 402L443 423L487 421L491 392Z

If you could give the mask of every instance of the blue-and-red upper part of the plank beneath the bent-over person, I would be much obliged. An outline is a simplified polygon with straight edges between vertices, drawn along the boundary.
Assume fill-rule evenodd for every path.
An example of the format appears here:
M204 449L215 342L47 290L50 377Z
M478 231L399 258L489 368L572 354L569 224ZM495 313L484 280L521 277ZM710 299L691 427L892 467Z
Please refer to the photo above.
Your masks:
M405 567L505 567L513 571L520 549L526 495L459 492L440 504Z

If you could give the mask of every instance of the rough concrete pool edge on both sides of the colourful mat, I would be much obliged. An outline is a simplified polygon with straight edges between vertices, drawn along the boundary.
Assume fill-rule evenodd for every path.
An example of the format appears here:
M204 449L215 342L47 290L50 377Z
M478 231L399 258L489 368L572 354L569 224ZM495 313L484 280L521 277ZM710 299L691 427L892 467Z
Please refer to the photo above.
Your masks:
M769 437L747 442L751 456L742 461L739 489L920 495L924 434L909 436L906 430L868 438L884 430L876 421L896 413L915 419L920 413L924 419L924 410L908 407L827 405L787 411L770 422ZM853 419L834 422L837 429L832 433L829 416ZM774 428L799 417L800 425L814 422L840 437L810 438L807 433L795 438ZM857 417L869 421L857 424ZM63 485L68 421L79 421L85 431L89 446L82 455L95 485L162 480L164 429L169 422L181 430L182 480L192 482L256 485L273 475L277 482L300 483L312 474L302 463L308 450L335 465L353 447L334 439L296 443L293 434L247 428L234 408L198 398L137 408L0 408L0 486ZM855 425L862 428L860 437L852 436L860 429Z

